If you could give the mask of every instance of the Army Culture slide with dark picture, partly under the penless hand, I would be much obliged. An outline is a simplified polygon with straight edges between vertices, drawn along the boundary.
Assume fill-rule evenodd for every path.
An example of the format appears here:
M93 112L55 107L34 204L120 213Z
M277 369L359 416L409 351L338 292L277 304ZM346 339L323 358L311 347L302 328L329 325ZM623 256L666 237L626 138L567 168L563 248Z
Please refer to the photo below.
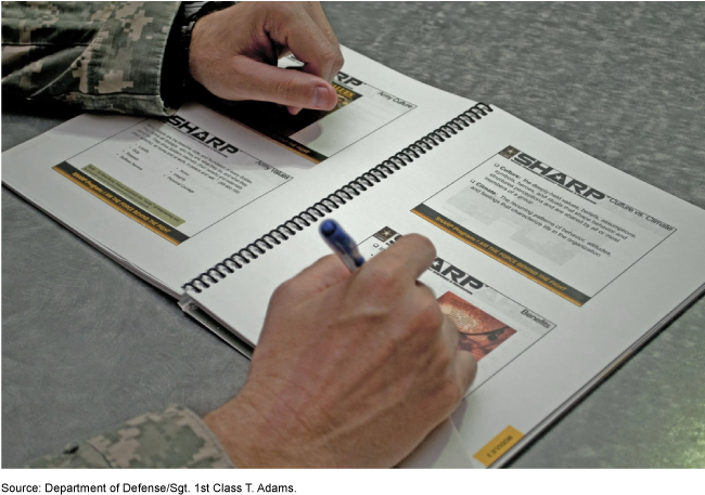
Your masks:
M296 70L303 64L292 55L279 66ZM346 73L333 80L337 105L332 110L303 109L291 115L267 102L238 102L215 109L315 164L345 149L416 107Z

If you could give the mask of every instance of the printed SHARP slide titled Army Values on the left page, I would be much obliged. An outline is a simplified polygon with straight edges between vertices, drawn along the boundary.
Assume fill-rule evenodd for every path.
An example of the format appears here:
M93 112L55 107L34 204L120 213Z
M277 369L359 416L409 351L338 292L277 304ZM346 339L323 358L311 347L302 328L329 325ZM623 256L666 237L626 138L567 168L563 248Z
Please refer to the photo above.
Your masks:
M293 179L178 115L53 169L175 245Z

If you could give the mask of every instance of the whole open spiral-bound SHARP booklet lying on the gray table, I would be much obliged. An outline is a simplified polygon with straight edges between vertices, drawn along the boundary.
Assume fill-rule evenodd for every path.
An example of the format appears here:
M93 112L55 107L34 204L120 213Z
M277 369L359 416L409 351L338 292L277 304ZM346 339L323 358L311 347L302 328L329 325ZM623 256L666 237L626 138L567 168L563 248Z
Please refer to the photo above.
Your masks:
M479 360L454 443L473 467L499 466L705 291L705 213L344 50L347 100L313 126L343 135L336 146L310 132L292 145L197 104L166 120L84 115L3 153L3 183L246 355L277 287L328 253L309 229L320 219L335 214L366 257L425 235L437 258L419 279ZM382 117L346 135L370 115ZM189 168L181 147L207 165Z

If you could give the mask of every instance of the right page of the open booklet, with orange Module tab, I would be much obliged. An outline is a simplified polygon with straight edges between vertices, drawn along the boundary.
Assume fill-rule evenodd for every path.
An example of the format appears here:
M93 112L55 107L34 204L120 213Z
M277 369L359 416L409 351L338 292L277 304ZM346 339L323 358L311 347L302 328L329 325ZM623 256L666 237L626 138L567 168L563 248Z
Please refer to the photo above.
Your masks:
M478 360L452 416L475 467L504 463L705 287L705 211L497 108L331 217L368 258L407 233L435 244L421 281ZM274 287L326 253L310 226L193 297L256 342Z

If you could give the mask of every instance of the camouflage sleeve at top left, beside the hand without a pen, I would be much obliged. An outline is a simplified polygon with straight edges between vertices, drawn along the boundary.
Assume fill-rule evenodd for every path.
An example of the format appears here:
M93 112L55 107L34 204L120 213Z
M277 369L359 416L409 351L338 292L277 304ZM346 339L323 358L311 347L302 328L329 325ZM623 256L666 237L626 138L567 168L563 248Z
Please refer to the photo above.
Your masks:
M161 79L179 2L2 2L3 92L169 115Z

